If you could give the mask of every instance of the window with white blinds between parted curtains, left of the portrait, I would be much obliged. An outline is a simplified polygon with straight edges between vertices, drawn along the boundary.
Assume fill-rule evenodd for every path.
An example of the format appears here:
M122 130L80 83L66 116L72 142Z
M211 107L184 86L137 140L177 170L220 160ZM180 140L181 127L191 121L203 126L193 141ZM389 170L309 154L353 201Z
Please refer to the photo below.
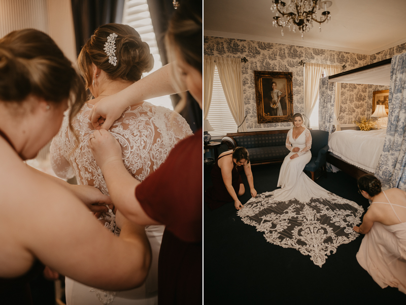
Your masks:
M214 129L214 131L209 131L212 137L237 132L237 125L228 108L217 67L214 69L212 102L207 118Z

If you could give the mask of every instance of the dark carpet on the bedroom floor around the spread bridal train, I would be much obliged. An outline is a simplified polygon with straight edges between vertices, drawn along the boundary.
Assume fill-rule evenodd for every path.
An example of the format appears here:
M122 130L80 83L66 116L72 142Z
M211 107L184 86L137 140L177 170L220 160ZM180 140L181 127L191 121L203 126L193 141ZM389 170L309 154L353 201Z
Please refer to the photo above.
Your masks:
M252 166L258 194L276 189L281 164ZM205 168L204 188L211 185ZM246 193L251 197L242 172ZM324 189L355 201L366 211L368 200L358 194L356 180L343 172L317 180ZM355 257L363 235L341 245L320 268L310 256L265 240L263 233L244 224L233 202L210 210L204 207L205 304L387 304L404 303L397 288L382 289Z

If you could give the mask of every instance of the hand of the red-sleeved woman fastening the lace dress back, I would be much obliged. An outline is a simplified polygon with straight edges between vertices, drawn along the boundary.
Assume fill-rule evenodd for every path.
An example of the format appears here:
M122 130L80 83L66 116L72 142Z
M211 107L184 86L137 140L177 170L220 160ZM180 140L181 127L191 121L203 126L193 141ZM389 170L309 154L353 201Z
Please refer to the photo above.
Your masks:
M95 130L89 137L89 147L101 171L108 163L123 163L121 146L107 130Z

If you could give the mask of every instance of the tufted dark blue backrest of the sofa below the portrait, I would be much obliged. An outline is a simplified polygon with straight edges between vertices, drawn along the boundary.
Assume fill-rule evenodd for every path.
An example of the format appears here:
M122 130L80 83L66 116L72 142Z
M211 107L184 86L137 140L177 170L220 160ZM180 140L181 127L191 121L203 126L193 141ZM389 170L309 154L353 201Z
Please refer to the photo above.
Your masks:
M243 146L247 149L268 146L285 146L286 143L286 133L253 136L234 136L233 138L237 146Z

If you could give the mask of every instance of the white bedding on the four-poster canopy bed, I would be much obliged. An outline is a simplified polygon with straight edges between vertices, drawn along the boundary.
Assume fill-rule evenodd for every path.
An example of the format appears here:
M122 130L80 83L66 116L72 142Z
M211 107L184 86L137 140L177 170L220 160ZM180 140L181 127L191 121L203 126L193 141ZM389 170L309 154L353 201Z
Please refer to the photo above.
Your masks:
M328 151L374 173L384 147L385 134L386 129L336 131L328 137Z

